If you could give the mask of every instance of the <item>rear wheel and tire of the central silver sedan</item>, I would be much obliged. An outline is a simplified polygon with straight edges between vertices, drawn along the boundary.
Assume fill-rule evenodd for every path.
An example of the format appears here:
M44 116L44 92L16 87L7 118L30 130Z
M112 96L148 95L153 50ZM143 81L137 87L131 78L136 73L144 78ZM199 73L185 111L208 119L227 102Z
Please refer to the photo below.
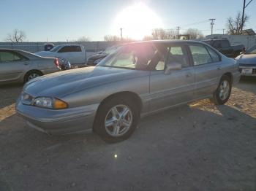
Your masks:
M213 98L211 101L216 105L225 104L230 98L230 93L232 89L230 77L224 75L220 81L217 90L215 90Z

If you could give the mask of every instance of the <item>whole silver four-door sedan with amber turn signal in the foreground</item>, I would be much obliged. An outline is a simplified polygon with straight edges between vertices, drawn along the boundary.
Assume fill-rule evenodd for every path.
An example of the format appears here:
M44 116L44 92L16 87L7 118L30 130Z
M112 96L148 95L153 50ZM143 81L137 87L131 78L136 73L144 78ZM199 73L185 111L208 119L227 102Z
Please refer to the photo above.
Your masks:
M16 109L45 133L93 129L116 142L131 136L148 114L203 98L225 104L240 76L234 59L202 42L135 42L97 66L31 80Z

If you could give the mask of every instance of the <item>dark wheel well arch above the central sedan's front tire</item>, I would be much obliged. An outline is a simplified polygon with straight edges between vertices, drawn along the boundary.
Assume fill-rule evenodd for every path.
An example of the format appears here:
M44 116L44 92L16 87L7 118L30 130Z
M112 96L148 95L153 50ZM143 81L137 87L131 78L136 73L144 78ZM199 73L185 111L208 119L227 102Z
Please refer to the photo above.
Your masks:
M94 123L95 123L95 119L97 118L97 114L99 112L100 107L105 104L108 100L110 100L113 97L116 96L121 96L121 97L125 97L125 98L130 98L132 101L135 102L135 105L138 106L139 111L141 111L142 109L142 101L140 99L140 96L137 93L133 93L133 92L129 92L129 91L124 91L124 92L118 92L118 93L114 93L112 95L109 95L107 98L105 98L98 106L96 115L94 117ZM93 125L94 126L94 125Z

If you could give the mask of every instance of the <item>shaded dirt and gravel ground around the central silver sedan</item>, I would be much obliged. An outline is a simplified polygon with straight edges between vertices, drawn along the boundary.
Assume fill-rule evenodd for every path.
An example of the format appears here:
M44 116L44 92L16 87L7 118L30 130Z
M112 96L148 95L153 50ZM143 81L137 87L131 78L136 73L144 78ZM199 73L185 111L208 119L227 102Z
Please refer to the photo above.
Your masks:
M203 100L140 121L127 141L47 136L0 87L0 190L256 190L256 78L230 101ZM115 157L116 155L116 157Z

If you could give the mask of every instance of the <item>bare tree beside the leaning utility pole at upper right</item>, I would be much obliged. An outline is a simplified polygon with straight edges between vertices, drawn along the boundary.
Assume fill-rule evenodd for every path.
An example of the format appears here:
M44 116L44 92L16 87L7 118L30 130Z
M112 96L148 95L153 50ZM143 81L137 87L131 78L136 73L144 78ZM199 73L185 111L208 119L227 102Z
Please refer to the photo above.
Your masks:
M227 34L242 34L242 28L246 26L246 22L249 20L247 15L244 15L242 20L241 12L238 12L235 18L227 18Z

